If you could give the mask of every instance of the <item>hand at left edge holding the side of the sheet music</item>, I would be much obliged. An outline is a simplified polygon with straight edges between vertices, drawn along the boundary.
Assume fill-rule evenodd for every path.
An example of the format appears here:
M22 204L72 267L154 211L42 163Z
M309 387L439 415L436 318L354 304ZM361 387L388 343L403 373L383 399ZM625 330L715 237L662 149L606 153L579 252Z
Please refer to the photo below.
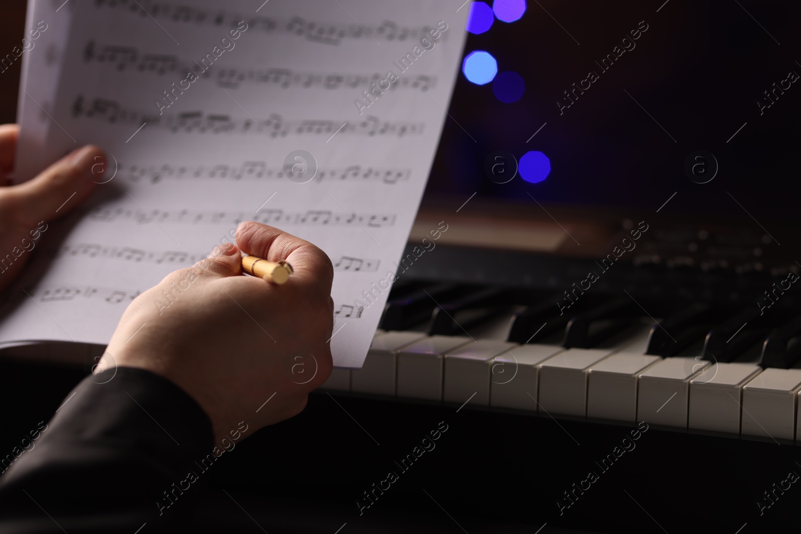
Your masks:
M8 186L18 134L16 124L0 126L0 290L22 271L46 223L82 203L97 187L94 180L99 178L93 168L106 165L103 151L90 145L66 155L26 183Z

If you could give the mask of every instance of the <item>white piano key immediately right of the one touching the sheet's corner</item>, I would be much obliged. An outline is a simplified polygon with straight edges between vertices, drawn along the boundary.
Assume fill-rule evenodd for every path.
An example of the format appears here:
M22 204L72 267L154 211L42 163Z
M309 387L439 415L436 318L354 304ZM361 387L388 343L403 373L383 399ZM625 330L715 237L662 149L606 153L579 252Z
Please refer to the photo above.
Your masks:
M410 399L442 400L445 353L473 343L457 335L432 335L397 353L397 395Z

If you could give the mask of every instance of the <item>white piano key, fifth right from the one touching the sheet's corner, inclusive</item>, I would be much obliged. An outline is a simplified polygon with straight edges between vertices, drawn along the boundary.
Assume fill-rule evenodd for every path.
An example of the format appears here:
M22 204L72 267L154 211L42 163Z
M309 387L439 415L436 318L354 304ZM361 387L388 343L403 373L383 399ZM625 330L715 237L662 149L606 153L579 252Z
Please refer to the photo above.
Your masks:
M587 369L610 349L570 348L540 363L539 407L548 413L586 416Z

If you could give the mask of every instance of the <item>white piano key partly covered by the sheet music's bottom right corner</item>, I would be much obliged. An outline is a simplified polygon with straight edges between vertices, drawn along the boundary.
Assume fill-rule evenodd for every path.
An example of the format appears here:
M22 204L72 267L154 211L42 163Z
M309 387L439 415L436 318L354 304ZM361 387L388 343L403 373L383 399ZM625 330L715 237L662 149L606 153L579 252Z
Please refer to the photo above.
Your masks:
M376 335L360 369L351 371L351 391L395 395L396 353L425 337L420 332L388 331Z

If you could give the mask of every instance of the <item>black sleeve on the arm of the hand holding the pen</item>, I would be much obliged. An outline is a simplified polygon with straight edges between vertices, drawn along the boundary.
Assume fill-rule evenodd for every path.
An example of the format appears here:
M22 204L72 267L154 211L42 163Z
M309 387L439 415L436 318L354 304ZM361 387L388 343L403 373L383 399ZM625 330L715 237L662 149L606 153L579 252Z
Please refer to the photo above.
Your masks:
M99 376L99 375L96 375ZM83 379L0 457L0 532L181 532L206 482L211 421L185 391L118 367Z

